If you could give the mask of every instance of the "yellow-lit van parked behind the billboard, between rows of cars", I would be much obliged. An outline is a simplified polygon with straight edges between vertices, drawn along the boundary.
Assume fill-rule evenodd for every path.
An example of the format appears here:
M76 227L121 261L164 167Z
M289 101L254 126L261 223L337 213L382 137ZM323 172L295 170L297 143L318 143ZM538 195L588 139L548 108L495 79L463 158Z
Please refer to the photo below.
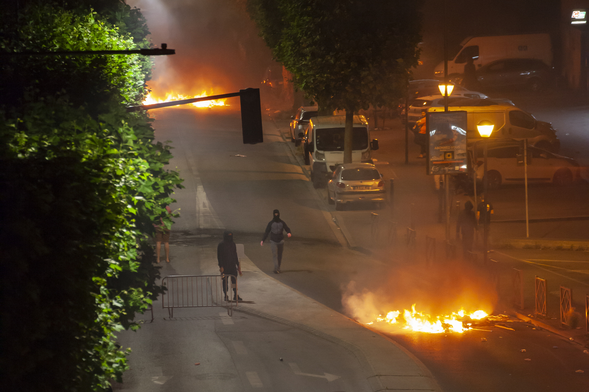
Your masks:
M484 101L481 99L481 101ZM495 127L490 139L528 139L528 144L542 150L557 152L560 140L557 130L550 122L538 121L528 112L509 105L454 106L448 111L466 111L466 138L468 141L481 139L477 124L482 120L491 121ZM444 108L432 107L429 112L443 112Z

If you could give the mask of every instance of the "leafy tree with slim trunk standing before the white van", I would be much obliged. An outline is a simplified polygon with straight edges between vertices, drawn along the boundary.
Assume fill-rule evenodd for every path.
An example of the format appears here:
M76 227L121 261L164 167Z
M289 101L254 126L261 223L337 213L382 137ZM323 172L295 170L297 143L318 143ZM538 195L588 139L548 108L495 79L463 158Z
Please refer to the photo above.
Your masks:
M417 65L416 2L247 0L247 9L297 87L346 111L344 162L352 162L353 113L401 98Z

